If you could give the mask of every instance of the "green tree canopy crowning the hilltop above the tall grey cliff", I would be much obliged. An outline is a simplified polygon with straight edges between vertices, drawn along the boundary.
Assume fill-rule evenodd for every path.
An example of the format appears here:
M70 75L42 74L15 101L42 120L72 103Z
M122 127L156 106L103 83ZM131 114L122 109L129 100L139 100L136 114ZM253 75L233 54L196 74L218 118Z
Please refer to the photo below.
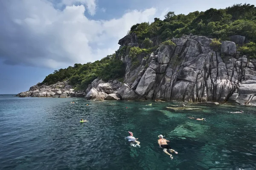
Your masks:
M227 40L231 35L242 35L256 41L256 8L250 4L237 4L226 9L210 8L204 12L191 12L187 15L169 12L164 20L136 24L130 33L136 33L140 40L159 37L165 41L183 34L213 36Z

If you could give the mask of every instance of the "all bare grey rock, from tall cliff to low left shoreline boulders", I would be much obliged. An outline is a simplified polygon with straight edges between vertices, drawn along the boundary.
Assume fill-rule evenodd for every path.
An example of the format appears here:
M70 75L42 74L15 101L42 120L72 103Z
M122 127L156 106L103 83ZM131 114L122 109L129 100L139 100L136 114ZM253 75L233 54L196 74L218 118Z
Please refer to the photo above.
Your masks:
M61 93L56 89L58 85L33 86L18 96L66 95L99 100L210 101L256 105L256 59L247 59L236 51L236 44L243 44L245 37L233 36L230 40L223 41L215 49L211 46L211 38L186 35L172 39L175 45L163 44L150 55L138 55L140 64L136 68L128 54L117 56L126 65L125 83L95 79L86 91L74 92L64 82ZM143 46L135 34L119 40L119 45L120 48Z

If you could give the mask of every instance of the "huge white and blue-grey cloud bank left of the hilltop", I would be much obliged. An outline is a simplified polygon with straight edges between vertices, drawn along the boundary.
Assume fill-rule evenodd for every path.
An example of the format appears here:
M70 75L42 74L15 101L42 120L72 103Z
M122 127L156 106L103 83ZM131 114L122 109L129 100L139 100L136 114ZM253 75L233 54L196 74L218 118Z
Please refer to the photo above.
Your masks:
M83 5L60 11L46 0L4 1L0 57L6 64L48 68L93 62L113 54L132 25L153 20L156 13L150 8L118 19L89 20L84 11Z

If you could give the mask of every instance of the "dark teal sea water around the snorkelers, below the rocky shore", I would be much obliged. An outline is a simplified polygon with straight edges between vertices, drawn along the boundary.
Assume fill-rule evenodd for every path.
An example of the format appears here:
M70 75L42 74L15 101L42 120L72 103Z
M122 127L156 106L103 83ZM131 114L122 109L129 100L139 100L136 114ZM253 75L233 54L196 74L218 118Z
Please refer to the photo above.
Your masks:
M0 95L0 170L256 170L256 107L149 103ZM141 147L129 145L128 131ZM173 160L160 134L178 152Z

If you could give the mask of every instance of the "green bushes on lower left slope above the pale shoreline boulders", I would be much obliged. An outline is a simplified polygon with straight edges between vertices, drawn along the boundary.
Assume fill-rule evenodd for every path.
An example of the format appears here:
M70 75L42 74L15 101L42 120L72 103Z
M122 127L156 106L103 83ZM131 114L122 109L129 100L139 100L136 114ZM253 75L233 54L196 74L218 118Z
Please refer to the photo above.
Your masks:
M41 84L50 85L69 79L70 85L76 87L77 90L84 90L97 77L103 80L120 79L124 74L125 65L113 54L100 61L87 62L84 65L75 64L74 67L55 70Z

